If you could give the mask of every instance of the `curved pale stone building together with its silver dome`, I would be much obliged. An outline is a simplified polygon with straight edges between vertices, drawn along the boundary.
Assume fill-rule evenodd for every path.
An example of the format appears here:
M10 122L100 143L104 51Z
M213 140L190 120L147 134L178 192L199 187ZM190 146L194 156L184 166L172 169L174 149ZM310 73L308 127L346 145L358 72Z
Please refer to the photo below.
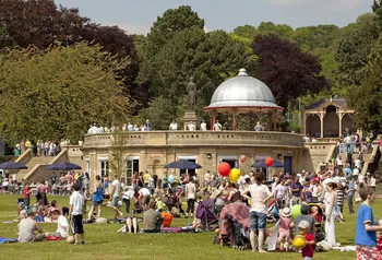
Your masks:
M218 101L218 103L217 103ZM219 106L217 106L217 105ZM223 104L223 105L220 105ZM274 96L261 81L240 70L238 76L229 79L218 86L213 95L211 109L230 113L268 113L282 109L274 103ZM84 137L83 169L94 179L96 175L110 174L110 159L116 133L96 133ZM122 145L126 159L124 177L128 184L133 172L156 173L162 176L181 174L176 169L165 169L165 165L177 159L193 161L202 166L194 174L203 175L206 170L217 173L220 162L241 169L242 174L251 170L256 159L272 156L284 164L283 169L298 172L313 168L309 149L305 147L302 137L295 133L275 131L151 131L123 132L127 142ZM244 163L239 162L247 156ZM111 173L112 174L112 173ZM190 173L193 174L193 173ZM200 176L201 177L201 176Z

